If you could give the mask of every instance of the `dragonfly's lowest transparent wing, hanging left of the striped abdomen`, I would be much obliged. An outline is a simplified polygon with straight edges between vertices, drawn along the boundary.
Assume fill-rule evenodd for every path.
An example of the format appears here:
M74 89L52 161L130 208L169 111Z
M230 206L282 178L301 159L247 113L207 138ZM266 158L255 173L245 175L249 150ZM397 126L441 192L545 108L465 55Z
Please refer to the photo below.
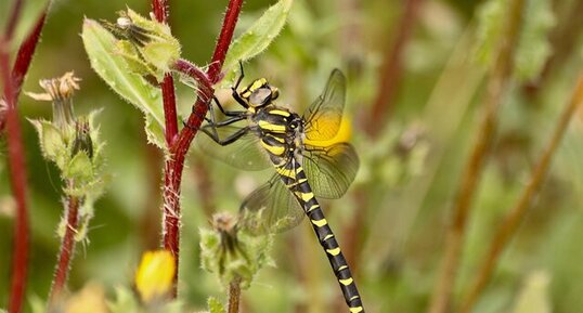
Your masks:
M241 205L241 212L245 226L258 233L283 232L303 219L299 201L278 174L252 192Z

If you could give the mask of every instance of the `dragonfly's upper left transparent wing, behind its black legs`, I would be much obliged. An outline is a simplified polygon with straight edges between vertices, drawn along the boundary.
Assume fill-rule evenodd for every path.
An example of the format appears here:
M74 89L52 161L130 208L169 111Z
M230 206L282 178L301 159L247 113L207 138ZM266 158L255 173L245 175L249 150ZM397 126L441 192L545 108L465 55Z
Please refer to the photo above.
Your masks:
M220 139L224 140L243 128L223 126L217 128L217 133ZM211 128L206 129L212 132ZM195 144L210 157L242 170L258 171L271 166L269 156L259 144L259 138L252 131L248 131L233 143L224 146L215 142L207 133L202 132L196 136Z

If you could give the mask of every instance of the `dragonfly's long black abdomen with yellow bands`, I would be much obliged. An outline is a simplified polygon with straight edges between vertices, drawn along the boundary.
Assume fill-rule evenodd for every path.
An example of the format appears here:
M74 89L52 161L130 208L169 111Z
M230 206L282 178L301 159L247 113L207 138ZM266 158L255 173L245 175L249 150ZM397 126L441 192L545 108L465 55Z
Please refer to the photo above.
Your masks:
M306 177L301 165L292 156L289 156L289 158L290 159L287 161L282 162L283 165L276 166L275 170L289 191L294 193L303 208L306 216L310 219L310 223L318 236L318 240L326 251L326 257L338 279L338 284L340 285L340 289L342 290L350 312L364 313L364 308L354 278L352 278L346 258L324 217L324 211L320 208L320 204L308 183L308 178Z

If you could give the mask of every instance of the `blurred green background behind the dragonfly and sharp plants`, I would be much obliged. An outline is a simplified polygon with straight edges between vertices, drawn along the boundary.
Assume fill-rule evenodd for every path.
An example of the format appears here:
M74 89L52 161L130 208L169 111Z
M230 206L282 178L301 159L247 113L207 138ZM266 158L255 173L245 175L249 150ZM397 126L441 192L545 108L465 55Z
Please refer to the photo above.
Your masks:
M381 99L390 109L378 125L378 134L368 135L365 128L373 104L387 89L380 86L380 73L398 38L405 3L410 2L417 2L418 8L407 27L410 36L399 62L401 76L389 82L396 91L393 96ZM549 38L550 55L555 56L553 62L539 57L548 68L528 81L511 80L504 97L500 130L468 225L456 299L465 295L495 226L524 187L582 68L583 28L571 12L583 1L530 2L547 5L546 13L554 16L555 26L539 36ZM246 1L237 34L272 3ZM170 4L170 24L183 45L183 57L205 65L226 1L171 0ZM281 89L281 103L299 112L321 92L334 67L348 74L346 114L353 118L352 142L361 157L361 169L349 194L341 200L324 203L324 208L349 255L368 312L425 312L428 307L455 188L476 138L484 94L488 65L476 60L477 29L484 23L477 18L480 4L482 1L466 0L296 0L282 34L265 53L245 65L248 79L267 77ZM150 10L148 1L55 1L24 84L25 91L39 92L39 79L75 70L82 78L75 110L103 108L98 120L107 142L108 171L114 179L106 196L96 204L89 243L78 246L72 290L90 281L107 286L109 295L114 286L131 285L141 253L155 248L159 240L160 154L146 144L141 114L91 70L79 36L83 16L115 21L116 12L127 6L143 15ZM541 47L529 49L537 51ZM226 99L228 92L219 91L218 95ZM192 90L180 87L178 96L187 110ZM42 159L37 134L25 120L50 118L50 105L22 95L20 112L31 220L27 300L44 299L59 247L55 229L62 214L61 182L53 165ZM522 312L516 309L520 295L543 301L552 312L581 312L581 113L573 118L546 183L475 312ZM2 138L0 308L8 301L13 217L4 155ZM208 226L209 212L235 212L250 186L259 185L267 174L242 172L192 149L182 185L180 269L180 295L191 311L203 310L209 296L224 299L225 295L217 278L200 270L198 229ZM261 271L251 288L244 291L244 312L346 311L308 223L277 236L272 256L277 268ZM526 289L531 294L522 291Z

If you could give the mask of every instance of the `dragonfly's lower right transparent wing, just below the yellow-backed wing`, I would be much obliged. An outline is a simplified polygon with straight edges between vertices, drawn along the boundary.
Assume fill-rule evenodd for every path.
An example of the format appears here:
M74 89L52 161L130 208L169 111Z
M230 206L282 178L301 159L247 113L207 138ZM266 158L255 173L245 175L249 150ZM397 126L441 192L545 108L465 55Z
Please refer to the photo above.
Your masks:
M349 143L331 146L305 146L302 166L314 195L340 198L357 175L359 157Z

